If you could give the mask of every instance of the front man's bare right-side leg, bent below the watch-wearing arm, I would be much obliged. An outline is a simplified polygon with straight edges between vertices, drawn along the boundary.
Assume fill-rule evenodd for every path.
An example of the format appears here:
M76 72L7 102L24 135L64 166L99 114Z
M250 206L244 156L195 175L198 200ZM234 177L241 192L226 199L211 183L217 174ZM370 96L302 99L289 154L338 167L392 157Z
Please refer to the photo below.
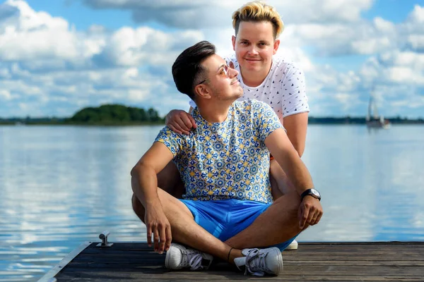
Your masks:
M237 249L244 249L268 247L293 238L302 231L299 228L299 205L298 193L288 192L273 202L249 227L225 243Z

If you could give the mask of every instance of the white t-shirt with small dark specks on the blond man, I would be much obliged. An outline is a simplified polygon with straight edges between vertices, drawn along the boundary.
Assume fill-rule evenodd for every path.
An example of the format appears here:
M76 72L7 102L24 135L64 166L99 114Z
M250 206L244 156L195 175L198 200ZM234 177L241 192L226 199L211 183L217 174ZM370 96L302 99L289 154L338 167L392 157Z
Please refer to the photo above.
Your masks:
M237 78L243 88L243 96L238 99L239 101L257 99L269 104L281 124L286 116L310 111L307 104L305 75L294 63L284 61L281 56L273 56L271 71L265 80L257 87L249 87L243 82L235 54L224 59L228 64L232 61L239 72ZM196 107L193 100L190 100L190 106Z

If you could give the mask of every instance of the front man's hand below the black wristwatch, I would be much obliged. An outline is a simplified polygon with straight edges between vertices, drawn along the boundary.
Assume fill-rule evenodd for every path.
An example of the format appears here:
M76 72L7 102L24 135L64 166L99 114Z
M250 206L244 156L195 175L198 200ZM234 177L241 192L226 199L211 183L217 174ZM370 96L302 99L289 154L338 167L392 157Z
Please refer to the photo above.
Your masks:
M315 225L322 216L322 206L318 199L305 196L300 203L298 217L299 228L305 230L307 226Z

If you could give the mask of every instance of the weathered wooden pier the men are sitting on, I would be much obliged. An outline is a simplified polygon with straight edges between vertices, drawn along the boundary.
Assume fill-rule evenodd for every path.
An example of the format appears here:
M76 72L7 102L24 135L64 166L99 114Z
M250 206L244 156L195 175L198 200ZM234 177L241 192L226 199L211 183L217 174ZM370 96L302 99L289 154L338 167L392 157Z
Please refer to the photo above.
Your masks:
M424 242L299 243L283 252L279 276L243 276L218 263L208 271L170 271L146 243L84 243L40 281L424 281Z

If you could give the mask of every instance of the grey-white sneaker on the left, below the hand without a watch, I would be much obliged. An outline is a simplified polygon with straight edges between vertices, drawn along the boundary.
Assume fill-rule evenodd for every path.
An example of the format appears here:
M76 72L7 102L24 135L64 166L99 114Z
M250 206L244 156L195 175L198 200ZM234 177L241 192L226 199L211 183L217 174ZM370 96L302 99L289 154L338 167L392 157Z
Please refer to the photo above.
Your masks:
M206 252L190 249L177 243L171 243L170 250L166 252L165 267L167 269L208 269L212 263L212 259L212 255L206 254Z

